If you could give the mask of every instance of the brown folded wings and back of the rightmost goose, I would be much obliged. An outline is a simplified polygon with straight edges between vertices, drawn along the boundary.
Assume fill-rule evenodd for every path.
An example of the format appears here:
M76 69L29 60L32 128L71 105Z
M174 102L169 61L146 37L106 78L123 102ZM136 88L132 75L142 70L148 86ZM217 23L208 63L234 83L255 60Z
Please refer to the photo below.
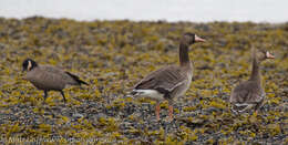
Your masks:
M230 96L232 103L258 103L263 100L264 91L257 82L246 81L237 85Z

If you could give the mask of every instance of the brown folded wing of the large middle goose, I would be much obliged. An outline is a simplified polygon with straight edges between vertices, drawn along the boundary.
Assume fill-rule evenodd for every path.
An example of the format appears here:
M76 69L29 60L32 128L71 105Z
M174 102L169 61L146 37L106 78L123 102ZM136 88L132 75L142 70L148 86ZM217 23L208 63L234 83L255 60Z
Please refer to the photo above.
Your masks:
M141 80L134 89L157 90L161 93L168 93L181 85L186 79L187 75L182 73L179 66L172 65L152 72Z

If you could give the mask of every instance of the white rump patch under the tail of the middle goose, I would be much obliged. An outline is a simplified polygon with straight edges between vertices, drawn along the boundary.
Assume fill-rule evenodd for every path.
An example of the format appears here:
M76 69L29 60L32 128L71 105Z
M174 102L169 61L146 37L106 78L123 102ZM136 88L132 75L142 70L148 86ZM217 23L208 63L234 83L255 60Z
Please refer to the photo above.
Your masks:
M148 97L157 101L164 100L164 94L156 90L133 90L133 92L136 93L134 96Z

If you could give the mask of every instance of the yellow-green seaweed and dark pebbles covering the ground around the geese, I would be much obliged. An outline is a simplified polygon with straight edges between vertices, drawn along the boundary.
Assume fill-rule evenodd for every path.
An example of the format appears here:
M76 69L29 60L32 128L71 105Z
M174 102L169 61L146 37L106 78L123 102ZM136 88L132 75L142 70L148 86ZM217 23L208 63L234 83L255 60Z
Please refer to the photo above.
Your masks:
M127 97L151 71L178 63L178 39L194 32L194 77L175 100L175 120L155 121L150 100ZM276 59L263 63L261 112L235 115L229 94L250 73L250 49ZM96 138L99 144L288 144L288 23L78 22L68 19L0 18L0 134L2 137ZM43 94L23 81L21 63L61 66L89 82ZM162 103L167 108L167 103ZM153 142L155 141L155 142ZM81 142L82 143L82 142Z

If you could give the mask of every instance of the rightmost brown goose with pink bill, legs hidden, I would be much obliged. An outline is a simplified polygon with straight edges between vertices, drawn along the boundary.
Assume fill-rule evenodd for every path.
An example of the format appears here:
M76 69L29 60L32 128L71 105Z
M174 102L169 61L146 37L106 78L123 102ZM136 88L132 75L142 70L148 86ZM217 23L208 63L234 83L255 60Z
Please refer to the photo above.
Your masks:
M253 49L253 69L250 79L238 84L230 95L229 101L232 103L233 112L241 113L250 108L257 111L261 106L265 91L261 86L259 65L264 60L274 58L275 56L268 51Z

